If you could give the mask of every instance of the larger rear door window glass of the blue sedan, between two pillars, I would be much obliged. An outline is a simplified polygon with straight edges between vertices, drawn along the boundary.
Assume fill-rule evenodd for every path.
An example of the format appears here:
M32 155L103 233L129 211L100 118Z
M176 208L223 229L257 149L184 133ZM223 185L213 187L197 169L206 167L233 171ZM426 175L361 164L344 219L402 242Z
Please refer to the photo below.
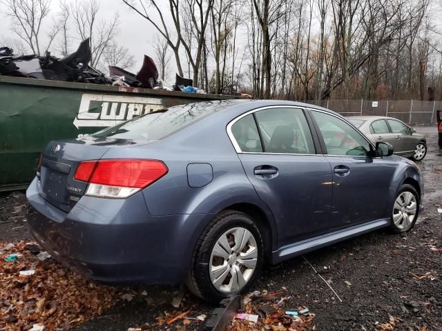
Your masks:
M269 108L255 116L265 152L316 154L307 119L299 108Z

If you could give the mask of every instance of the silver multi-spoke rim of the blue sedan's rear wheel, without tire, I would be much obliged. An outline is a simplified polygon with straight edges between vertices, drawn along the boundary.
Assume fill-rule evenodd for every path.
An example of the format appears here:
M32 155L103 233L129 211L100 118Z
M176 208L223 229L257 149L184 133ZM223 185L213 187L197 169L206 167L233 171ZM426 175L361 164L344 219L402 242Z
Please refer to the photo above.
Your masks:
M238 292L251 279L258 261L258 246L245 228L231 228L213 245L209 274L212 285L220 292Z

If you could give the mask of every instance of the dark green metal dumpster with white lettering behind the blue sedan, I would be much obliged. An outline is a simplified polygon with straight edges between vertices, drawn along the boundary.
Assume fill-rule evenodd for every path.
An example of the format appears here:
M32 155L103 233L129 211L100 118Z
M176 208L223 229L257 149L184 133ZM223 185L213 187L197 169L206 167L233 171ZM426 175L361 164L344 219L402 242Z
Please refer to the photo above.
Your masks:
M233 96L0 76L0 191L26 188L40 151L140 114Z

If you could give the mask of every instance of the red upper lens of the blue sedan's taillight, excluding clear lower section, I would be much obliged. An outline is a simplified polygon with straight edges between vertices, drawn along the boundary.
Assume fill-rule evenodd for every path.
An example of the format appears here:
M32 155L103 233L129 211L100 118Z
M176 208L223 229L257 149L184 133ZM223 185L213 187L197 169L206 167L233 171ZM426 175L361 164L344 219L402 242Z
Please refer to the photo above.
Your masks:
M140 159L100 160L89 183L145 188L168 171L162 161Z

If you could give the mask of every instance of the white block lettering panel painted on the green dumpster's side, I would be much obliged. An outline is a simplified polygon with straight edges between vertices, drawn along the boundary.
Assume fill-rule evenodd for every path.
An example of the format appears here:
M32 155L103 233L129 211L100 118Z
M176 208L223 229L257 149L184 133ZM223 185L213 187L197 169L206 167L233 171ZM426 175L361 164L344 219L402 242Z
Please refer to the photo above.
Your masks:
M161 99L123 95L83 94L74 126L108 127L164 108Z

